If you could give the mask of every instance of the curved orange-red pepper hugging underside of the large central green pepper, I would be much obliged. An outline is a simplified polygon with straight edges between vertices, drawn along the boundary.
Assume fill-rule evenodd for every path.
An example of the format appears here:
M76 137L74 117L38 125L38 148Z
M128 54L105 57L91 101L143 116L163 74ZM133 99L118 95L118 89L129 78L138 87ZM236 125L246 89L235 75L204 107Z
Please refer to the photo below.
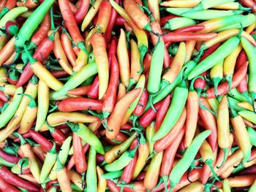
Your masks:
M178 121L175 126L173 126L173 129L169 131L165 137L155 142L154 150L156 150L157 152L165 150L176 139L178 134L183 129L186 118L187 110L184 108L184 110L181 112L181 117L178 118Z

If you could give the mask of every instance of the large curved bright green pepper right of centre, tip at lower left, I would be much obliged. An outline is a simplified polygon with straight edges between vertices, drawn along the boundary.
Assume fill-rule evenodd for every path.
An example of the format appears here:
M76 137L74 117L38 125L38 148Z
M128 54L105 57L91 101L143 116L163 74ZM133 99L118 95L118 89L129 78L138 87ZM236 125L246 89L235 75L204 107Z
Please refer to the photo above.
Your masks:
M164 120L162 121L162 125L160 126L157 133L154 134L154 137L152 138L153 141L157 141L162 139L162 137L165 137L165 135L173 128L173 126L175 126L186 104L187 94L187 85L186 82L183 81L181 82L180 86L175 88L170 107L167 110Z

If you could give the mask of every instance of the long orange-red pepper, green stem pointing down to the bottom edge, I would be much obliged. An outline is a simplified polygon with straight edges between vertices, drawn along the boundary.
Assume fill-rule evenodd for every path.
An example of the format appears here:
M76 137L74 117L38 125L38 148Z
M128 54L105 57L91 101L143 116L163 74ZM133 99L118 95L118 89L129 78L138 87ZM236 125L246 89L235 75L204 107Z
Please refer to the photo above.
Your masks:
M178 145L180 144L183 136L184 136L184 128L177 135L176 140L173 141L163 153L162 165L161 165L159 175L161 176L165 184L165 190L167 190L167 178L171 172L171 169L173 168L173 162L174 162L176 152L178 150Z

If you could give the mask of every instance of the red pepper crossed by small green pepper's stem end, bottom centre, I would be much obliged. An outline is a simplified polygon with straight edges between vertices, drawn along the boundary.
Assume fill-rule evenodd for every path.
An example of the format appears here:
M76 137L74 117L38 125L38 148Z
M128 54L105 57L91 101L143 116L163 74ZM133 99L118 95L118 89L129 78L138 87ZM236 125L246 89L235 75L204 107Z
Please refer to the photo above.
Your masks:
M133 150L138 145L138 139L134 139L132 145L129 147L129 150ZM121 174L121 181L124 183L129 183L132 180L132 174L135 170L135 166L137 163L138 153L136 152L132 161L129 162L127 166L124 167L124 171Z

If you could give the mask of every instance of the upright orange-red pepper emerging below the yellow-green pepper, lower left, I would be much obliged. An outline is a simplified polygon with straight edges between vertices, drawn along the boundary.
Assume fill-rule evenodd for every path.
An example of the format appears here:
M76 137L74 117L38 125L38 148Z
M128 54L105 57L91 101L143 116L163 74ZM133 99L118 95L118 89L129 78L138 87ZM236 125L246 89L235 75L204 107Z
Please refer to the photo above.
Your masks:
M73 151L74 151L74 161L75 161L75 169L79 173L86 172L87 164L86 164L86 155L83 153L82 139L73 134Z

